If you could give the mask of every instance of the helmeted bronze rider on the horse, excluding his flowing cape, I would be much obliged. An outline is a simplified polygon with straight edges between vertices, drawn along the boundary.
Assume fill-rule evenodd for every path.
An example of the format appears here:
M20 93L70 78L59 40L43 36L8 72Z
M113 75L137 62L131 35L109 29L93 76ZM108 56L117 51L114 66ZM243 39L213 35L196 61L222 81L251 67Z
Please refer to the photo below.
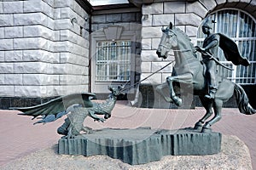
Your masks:
M219 46L219 35L212 34L212 23L214 21L207 19L202 26L202 31L207 35L203 42L203 46L195 46L195 50L201 52L202 61L207 66L207 85L208 85L208 94L205 95L207 99L214 99L216 91L218 89L218 81L216 80L217 74L217 64L212 59L212 57L218 56L218 46Z

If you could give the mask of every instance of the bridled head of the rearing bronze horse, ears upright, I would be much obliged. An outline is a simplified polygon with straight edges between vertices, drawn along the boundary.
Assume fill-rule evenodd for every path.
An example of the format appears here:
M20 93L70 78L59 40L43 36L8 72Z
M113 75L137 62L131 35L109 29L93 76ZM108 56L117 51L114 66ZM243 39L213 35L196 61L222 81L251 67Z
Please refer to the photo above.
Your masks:
M163 36L161 37L160 44L158 46L158 49L156 51L156 54L159 58L166 59L168 56L168 52L172 48L177 47L177 35L172 30L172 22L170 23L170 26L165 28L162 28Z

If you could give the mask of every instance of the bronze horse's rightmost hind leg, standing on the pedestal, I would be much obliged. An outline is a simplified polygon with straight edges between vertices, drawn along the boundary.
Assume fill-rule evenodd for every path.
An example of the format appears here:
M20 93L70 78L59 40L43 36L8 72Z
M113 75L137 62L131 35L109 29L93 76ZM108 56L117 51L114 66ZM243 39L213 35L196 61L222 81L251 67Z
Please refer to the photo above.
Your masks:
M222 105L223 105L223 101L221 99L214 100L213 102L214 116L209 122L206 122L206 124L202 128L202 131L201 131L202 133L212 132L211 130L212 124L214 124L215 122L218 122L221 119Z

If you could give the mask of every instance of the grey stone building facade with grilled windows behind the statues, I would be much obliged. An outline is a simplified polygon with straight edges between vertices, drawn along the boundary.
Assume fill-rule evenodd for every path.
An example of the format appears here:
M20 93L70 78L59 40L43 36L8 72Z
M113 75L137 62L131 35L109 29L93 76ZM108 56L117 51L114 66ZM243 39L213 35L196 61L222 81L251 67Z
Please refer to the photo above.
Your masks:
M196 45L208 16L219 21L214 31L234 38L250 60L248 68L236 67L224 76L241 83L253 98L255 0L130 0L102 6L86 0L1 1L0 106L36 105L79 92L104 98L108 85L132 85L174 59L155 54L162 26L172 22ZM172 66L131 88L128 94L134 95L127 98L146 107L170 107L154 87L166 81Z

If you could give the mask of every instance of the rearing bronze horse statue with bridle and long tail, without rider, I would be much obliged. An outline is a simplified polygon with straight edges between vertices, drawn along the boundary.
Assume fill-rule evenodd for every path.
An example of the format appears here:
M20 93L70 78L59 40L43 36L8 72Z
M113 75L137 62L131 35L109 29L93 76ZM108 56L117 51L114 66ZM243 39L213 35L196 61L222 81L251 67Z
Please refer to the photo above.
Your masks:
M180 29L172 26L162 28L163 35L160 40L160 45L156 54L159 58L166 59L168 52L173 50L175 56L175 65L173 67L172 76L166 77L166 82L160 84L156 91L167 101L172 102L177 106L182 105L182 99L176 94L177 83L184 84L192 88L192 93L198 95L201 99L201 104L206 109L207 113L198 122L195 123L195 129L202 133L210 133L212 124L221 119L221 110L224 102L228 101L233 94L236 96L236 103L239 111L246 115L252 115L256 112L249 104L247 94L240 85L235 82L219 76L218 90L214 99L205 98L207 94L207 79L206 66L195 54L195 48L189 37ZM218 63L220 64L220 63ZM221 65L221 64L220 64ZM164 88L168 88L170 95L164 92ZM213 111L212 111L213 109ZM208 122L207 119L214 116Z

